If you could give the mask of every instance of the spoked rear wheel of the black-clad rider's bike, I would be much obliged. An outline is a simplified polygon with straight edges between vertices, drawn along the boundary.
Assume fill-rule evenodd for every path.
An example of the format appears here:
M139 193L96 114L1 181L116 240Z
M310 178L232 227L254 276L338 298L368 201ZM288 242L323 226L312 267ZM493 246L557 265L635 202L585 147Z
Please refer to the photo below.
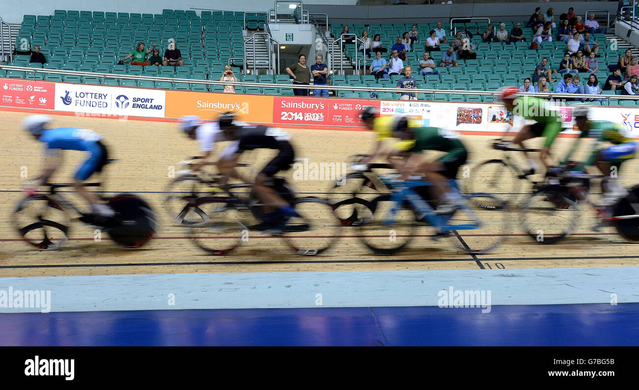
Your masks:
M289 218L282 237L296 253L305 256L318 255L339 240L341 222L332 203L326 199L309 196L295 199L293 206L302 218ZM296 229L300 231L296 232Z

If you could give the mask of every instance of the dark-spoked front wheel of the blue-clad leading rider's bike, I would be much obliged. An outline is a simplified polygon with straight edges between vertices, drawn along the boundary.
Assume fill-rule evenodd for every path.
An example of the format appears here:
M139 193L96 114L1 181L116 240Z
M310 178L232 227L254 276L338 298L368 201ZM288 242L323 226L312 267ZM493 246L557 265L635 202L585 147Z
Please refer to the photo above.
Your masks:
M68 213L48 196L22 199L13 211L13 224L25 242L40 250L59 249L68 241Z

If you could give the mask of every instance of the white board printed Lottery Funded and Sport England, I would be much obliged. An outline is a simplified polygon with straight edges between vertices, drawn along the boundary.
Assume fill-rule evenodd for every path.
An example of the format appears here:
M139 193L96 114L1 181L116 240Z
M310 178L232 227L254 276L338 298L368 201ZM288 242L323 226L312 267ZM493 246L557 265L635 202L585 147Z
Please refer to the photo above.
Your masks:
M56 83L55 101L58 111L164 118L166 91Z

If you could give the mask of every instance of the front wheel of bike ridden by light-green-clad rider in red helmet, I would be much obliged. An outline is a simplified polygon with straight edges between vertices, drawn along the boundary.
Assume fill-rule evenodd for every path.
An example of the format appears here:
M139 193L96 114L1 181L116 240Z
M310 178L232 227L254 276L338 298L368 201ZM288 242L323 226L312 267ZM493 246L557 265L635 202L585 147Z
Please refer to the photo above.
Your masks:
M500 203L509 201L517 205L521 201L520 172L503 160L488 160L470 170L470 176L464 179L465 193L468 195L488 194ZM490 198L473 196L470 201L477 207L490 207ZM488 201L488 203L486 203Z

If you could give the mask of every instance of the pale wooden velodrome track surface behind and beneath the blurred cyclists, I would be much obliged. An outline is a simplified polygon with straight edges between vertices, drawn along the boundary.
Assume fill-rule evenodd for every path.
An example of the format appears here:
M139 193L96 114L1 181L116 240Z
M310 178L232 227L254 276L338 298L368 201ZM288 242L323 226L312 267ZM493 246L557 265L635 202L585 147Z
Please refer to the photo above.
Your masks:
M446 240L435 242L427 237L418 238L398 256L373 256L357 238L349 237L357 234L352 230L355 229L353 227L344 228L345 237L319 256L296 255L281 240L257 234L251 235L248 243L227 256L208 256L192 245L185 237L183 227L173 224L162 208L162 191L169 181L169 167L175 166L177 170L178 161L196 155L195 141L180 134L174 123L66 115L54 115L54 126L93 129L104 136L110 157L118 159L117 163L107 168L107 187L102 190L113 193L138 192L157 212L160 228L157 238L146 247L125 250L110 240L94 242L93 228L76 221L72 222L70 241L61 250L42 252L31 249L19 240L10 217L22 197L20 184L27 180L20 177L22 167L27 167L29 178L35 178L42 169L42 146L19 125L26 115L3 112L0 119L3 140L0 146L0 277L639 265L639 245L626 243L612 228L599 233L589 229L594 224L590 210L582 217L576 234L563 242L540 245L524 236L523 231L515 226L502 247L481 256L470 256L456 250ZM346 162L350 155L367 152L374 140L374 134L365 131L288 131L293 134L297 157L306 157L316 163ZM488 147L490 140L489 136L463 136L471 152L470 166L502 153ZM530 146L539 145L539 141L533 140ZM557 150L565 152L571 141L559 138L555 144ZM221 148L217 147L216 150ZM253 154L255 161L250 163L263 166L271 154ZM521 161L520 154L514 154ZM79 152L66 152L62 169L52 181L69 182L81 157ZM624 166L624 171L636 172L638 168L639 161L635 159ZM635 184L633 177L636 175L626 175L624 184ZM291 171L288 178L291 178ZM291 180L291 184L298 192L323 196L321 193L327 192L332 182ZM593 192L599 192L598 182ZM69 197L77 199L75 195L70 194ZM86 206L79 201L77 205ZM516 222L517 218L515 213L511 215L512 221Z

